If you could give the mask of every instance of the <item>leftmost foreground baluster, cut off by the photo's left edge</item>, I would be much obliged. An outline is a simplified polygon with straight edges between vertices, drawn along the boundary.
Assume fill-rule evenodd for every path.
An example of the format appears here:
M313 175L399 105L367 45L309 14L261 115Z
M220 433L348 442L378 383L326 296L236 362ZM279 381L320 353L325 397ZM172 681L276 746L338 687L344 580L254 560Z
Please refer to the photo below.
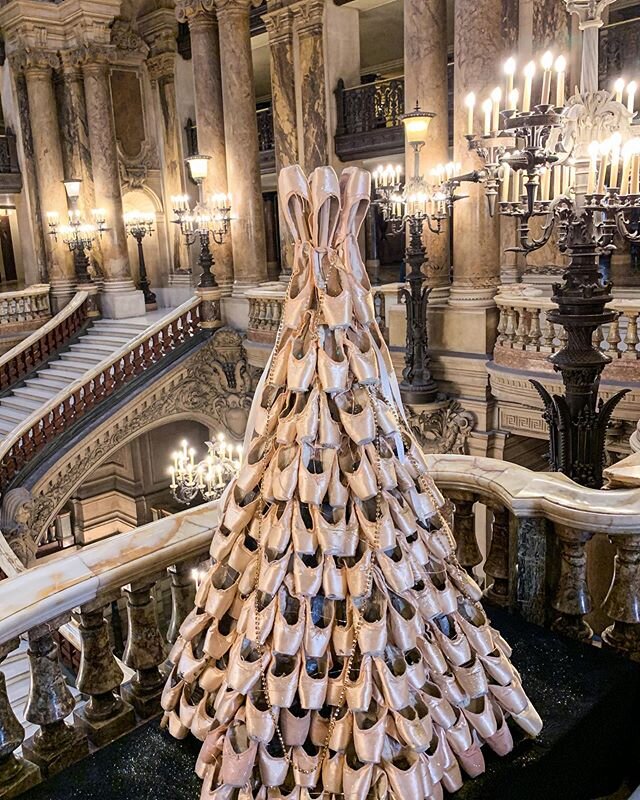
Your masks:
M0 664L18 647L12 639L0 645ZM15 751L24 740L24 729L13 713L7 694L4 673L0 672L0 798L17 797L40 782L40 769L36 764L16 756Z

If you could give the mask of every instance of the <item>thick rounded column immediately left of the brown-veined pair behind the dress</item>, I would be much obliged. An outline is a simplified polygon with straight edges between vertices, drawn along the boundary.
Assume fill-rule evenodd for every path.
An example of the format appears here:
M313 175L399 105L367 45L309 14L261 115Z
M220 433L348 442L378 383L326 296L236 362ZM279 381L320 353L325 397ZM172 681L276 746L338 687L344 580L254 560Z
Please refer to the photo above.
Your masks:
M267 279L267 254L258 157L256 98L251 59L251 0L215 0L220 29L222 100L231 223L234 291Z

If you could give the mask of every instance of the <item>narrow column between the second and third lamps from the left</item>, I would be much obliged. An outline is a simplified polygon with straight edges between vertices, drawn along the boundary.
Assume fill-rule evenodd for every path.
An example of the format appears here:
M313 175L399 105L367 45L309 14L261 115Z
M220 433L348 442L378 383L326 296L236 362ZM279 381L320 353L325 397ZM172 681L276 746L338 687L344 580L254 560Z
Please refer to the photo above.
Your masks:
M177 22L175 23L177 26ZM175 38L173 38L175 48ZM162 185L166 209L167 244L170 254L169 286L184 285L190 279L189 256L180 232L174 225L171 198L184 194L181 131L176 108L176 52L174 49L155 53L147 58L147 71L158 111L158 135L162 141ZM189 281L190 282L190 281Z

